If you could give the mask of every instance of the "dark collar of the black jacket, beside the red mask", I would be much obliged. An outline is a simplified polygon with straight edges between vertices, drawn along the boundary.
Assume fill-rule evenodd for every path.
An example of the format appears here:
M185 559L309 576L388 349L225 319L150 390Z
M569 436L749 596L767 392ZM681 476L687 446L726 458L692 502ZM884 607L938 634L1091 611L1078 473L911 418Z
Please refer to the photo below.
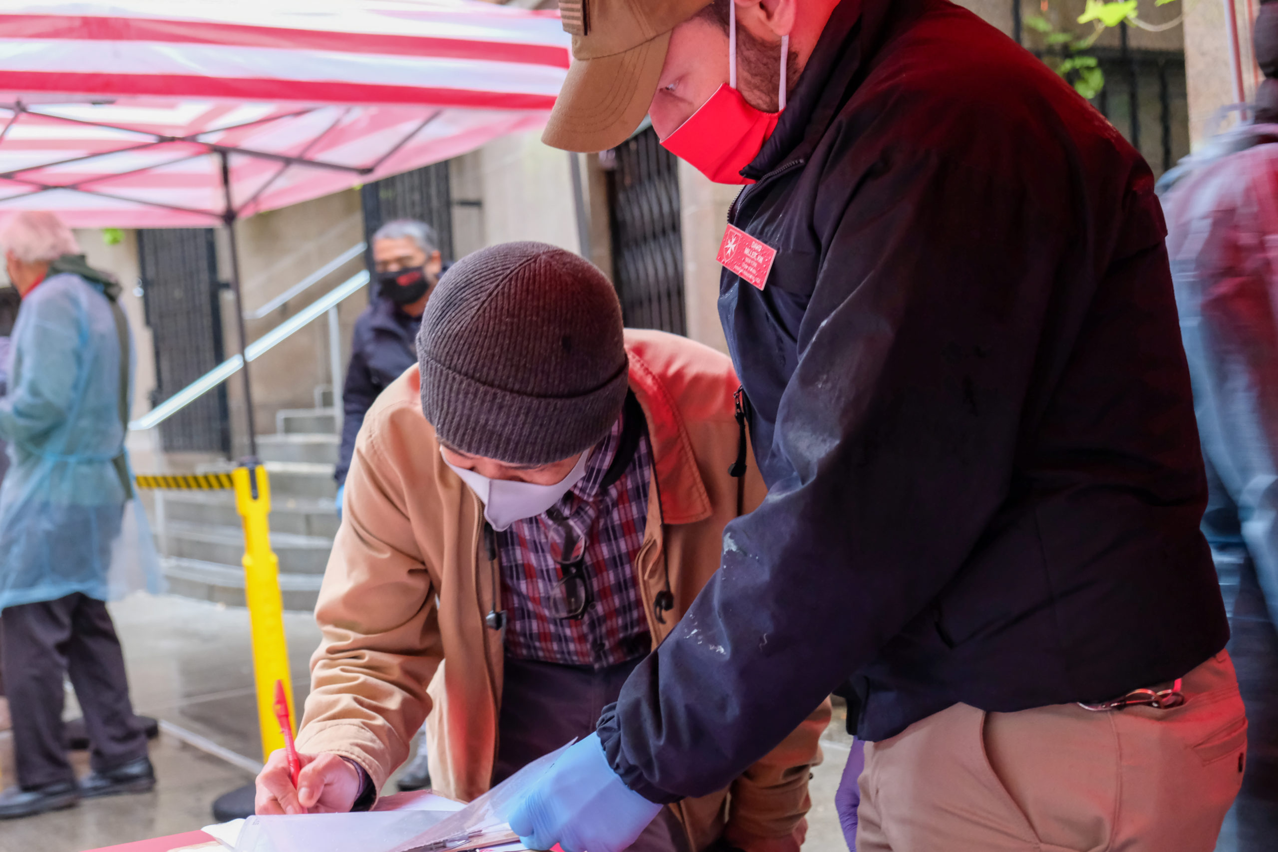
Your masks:
M791 160L806 160L865 77L889 19L920 5L918 0L843 0L835 6L777 129L741 174L758 180Z

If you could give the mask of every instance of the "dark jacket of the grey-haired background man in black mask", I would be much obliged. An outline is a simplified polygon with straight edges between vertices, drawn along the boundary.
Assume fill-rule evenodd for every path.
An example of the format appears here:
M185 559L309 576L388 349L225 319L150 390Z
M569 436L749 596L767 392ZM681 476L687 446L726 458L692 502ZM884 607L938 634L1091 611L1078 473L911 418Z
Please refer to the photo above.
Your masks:
M337 484L346 482L355 436L377 395L417 363L417 330L422 318L409 318L389 299L373 296L355 319L350 341L350 367L341 390L341 450L337 455Z

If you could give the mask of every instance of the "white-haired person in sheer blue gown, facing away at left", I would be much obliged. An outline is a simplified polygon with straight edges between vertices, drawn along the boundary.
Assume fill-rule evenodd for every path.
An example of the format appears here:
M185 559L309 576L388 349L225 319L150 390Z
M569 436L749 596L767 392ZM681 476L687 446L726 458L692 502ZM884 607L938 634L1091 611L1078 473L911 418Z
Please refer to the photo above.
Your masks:
M132 347L120 287L52 213L5 220L0 247L22 295L0 400L12 460L0 485L0 667L18 775L0 818L15 818L155 786L104 602L158 590L158 565L124 450ZM92 741L79 783L64 676Z

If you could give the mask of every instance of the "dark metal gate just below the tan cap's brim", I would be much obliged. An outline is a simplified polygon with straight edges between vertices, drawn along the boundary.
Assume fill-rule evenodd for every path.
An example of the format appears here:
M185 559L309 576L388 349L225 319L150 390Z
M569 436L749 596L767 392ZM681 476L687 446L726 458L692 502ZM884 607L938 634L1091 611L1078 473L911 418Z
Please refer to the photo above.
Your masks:
M631 328L676 335L684 319L684 238L675 156L648 128L612 152L608 208L612 270L621 316Z

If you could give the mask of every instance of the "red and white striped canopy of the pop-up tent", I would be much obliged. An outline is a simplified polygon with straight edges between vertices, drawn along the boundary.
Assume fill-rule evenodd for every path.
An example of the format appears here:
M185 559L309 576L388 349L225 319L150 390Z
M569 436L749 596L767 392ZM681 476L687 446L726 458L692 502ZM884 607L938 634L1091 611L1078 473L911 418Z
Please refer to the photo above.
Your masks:
M192 227L546 123L557 13L469 0L0 5L0 212Z

